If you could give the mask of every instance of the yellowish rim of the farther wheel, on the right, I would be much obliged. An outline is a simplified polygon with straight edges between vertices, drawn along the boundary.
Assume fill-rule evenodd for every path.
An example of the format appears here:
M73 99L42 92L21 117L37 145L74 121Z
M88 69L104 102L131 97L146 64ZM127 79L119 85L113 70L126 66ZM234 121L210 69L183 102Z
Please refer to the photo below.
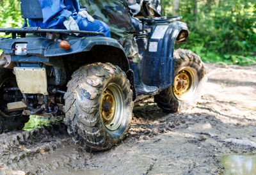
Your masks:
M184 101L192 98L198 88L198 75L191 67L184 67L175 75L173 81L173 94L178 100Z

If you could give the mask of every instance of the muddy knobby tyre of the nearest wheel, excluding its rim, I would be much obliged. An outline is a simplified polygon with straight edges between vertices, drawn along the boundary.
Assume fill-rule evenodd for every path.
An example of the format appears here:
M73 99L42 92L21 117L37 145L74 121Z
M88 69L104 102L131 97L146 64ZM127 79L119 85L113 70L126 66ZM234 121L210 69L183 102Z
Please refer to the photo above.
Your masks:
M125 79L125 84L120 86L130 87L125 73L111 63L84 65L73 73L72 79L67 84L68 90L64 96L65 108L67 107L65 124L74 141L85 146L88 151L109 149L124 138L124 134L121 134L120 139L109 137L100 119L99 97L102 88L108 79L116 76ZM132 92L131 89L129 90ZM132 93L128 94L129 98L132 98ZM128 128L125 129L125 132Z

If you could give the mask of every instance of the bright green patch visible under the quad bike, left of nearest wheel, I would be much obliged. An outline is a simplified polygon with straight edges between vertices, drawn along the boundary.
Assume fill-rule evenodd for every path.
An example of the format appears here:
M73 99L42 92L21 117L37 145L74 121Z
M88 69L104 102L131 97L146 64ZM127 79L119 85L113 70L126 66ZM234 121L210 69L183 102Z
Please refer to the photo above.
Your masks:
M46 118L42 116L29 116L29 121L24 125L23 130L30 131L35 128L41 128L44 126L49 126L63 120L63 117L56 118Z

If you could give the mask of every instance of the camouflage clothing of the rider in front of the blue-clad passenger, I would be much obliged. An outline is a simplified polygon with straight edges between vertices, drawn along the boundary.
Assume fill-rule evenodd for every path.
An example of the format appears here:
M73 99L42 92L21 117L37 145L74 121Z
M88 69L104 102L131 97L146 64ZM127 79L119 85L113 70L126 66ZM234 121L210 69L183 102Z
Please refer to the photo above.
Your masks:
M124 47L129 61L140 63L138 45L134 40L136 31L132 26L127 0L80 0L80 3L94 19L108 24L111 36Z

